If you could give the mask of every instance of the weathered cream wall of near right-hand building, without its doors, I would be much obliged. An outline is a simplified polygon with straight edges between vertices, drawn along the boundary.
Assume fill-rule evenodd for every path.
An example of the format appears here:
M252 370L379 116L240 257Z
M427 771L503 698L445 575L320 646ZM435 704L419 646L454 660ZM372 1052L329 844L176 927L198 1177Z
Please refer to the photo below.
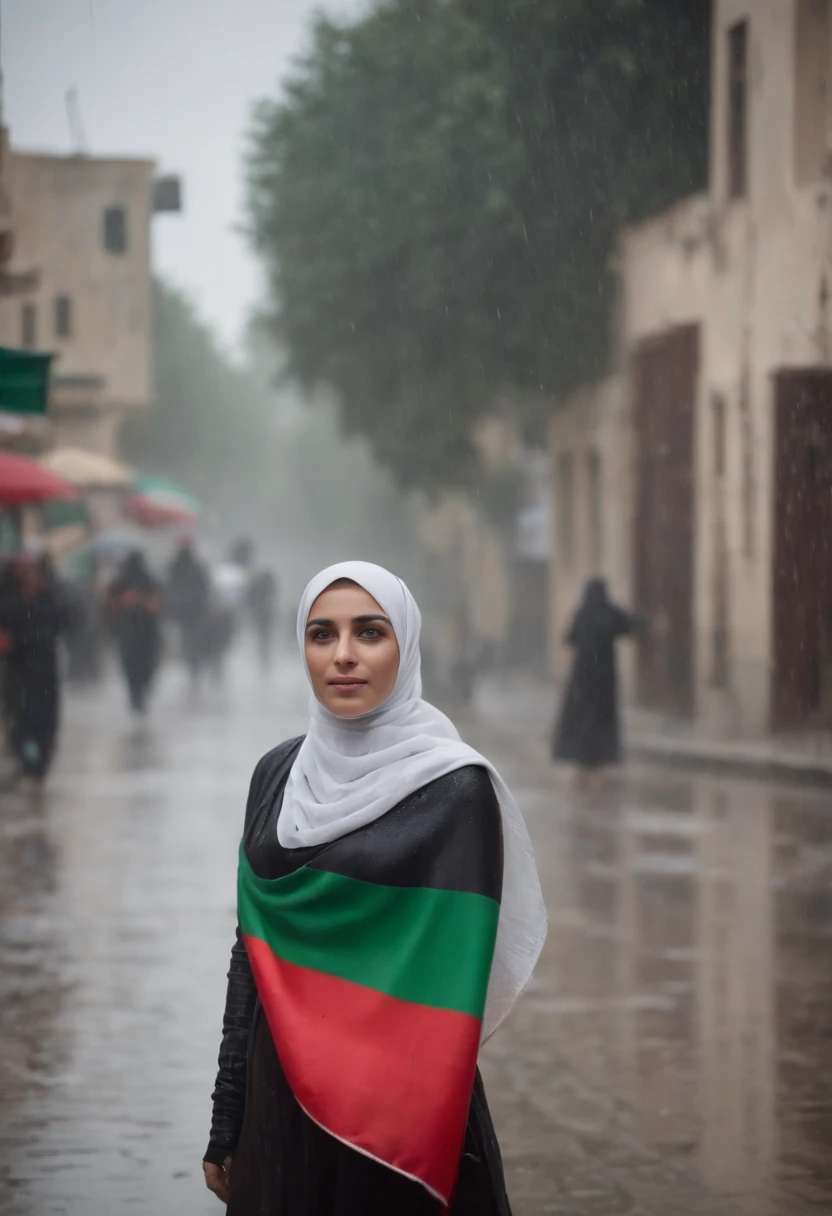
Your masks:
M712 164L708 195L687 199L623 233L620 311L624 377L645 338L688 321L701 326L695 430L695 646L699 719L715 728L759 733L770 721L775 507L774 375L828 366L832 333L832 179L811 178L797 134L811 114L796 111L805 74L817 74L813 39L797 38L800 0L718 0L714 13ZM813 5L828 77L828 26ZM805 16L805 12L804 12ZM727 188L727 39L748 21L748 191ZM799 94L799 90L802 92ZM811 90L809 90L811 96ZM802 102L805 105L805 101ZM828 97L823 102L832 145ZM805 145L805 140L803 141ZM827 158L828 163L828 158ZM800 170L799 173L797 170ZM715 469L714 400L725 417L725 474ZM630 406L631 406L630 401ZM721 496L721 497L720 497ZM730 675L713 687L716 517L727 541Z

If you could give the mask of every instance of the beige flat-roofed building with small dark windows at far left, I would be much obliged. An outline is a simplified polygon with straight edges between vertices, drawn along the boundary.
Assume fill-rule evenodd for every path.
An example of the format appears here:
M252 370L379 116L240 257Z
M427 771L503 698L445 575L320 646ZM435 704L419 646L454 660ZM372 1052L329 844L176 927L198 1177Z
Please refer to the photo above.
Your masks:
M152 396L151 161L12 148L13 252L0 344L55 353L51 441L116 455Z

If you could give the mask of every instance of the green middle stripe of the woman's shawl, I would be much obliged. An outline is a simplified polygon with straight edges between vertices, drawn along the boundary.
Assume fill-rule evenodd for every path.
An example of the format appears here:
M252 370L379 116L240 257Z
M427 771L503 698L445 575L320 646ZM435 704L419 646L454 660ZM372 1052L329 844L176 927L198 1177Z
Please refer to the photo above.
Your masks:
M279 958L387 996L482 1018L500 906L324 869L263 879L241 849L238 919Z

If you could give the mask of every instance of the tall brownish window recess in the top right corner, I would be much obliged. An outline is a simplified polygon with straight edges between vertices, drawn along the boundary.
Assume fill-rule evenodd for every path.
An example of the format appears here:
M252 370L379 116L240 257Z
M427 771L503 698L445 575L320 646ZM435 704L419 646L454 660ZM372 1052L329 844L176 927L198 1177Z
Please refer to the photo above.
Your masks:
M794 6L794 179L817 181L826 159L830 73L830 0Z

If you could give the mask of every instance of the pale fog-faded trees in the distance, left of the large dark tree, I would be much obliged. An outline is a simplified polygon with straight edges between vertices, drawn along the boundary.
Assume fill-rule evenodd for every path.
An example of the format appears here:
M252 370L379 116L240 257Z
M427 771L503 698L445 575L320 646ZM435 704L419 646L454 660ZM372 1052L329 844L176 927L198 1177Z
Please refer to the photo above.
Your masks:
M251 533L304 579L344 554L406 564L414 503L361 440L344 439L331 406L300 407L279 388L259 327L236 364L187 297L157 281L154 361L154 406L125 437L128 455L192 490L215 533Z

